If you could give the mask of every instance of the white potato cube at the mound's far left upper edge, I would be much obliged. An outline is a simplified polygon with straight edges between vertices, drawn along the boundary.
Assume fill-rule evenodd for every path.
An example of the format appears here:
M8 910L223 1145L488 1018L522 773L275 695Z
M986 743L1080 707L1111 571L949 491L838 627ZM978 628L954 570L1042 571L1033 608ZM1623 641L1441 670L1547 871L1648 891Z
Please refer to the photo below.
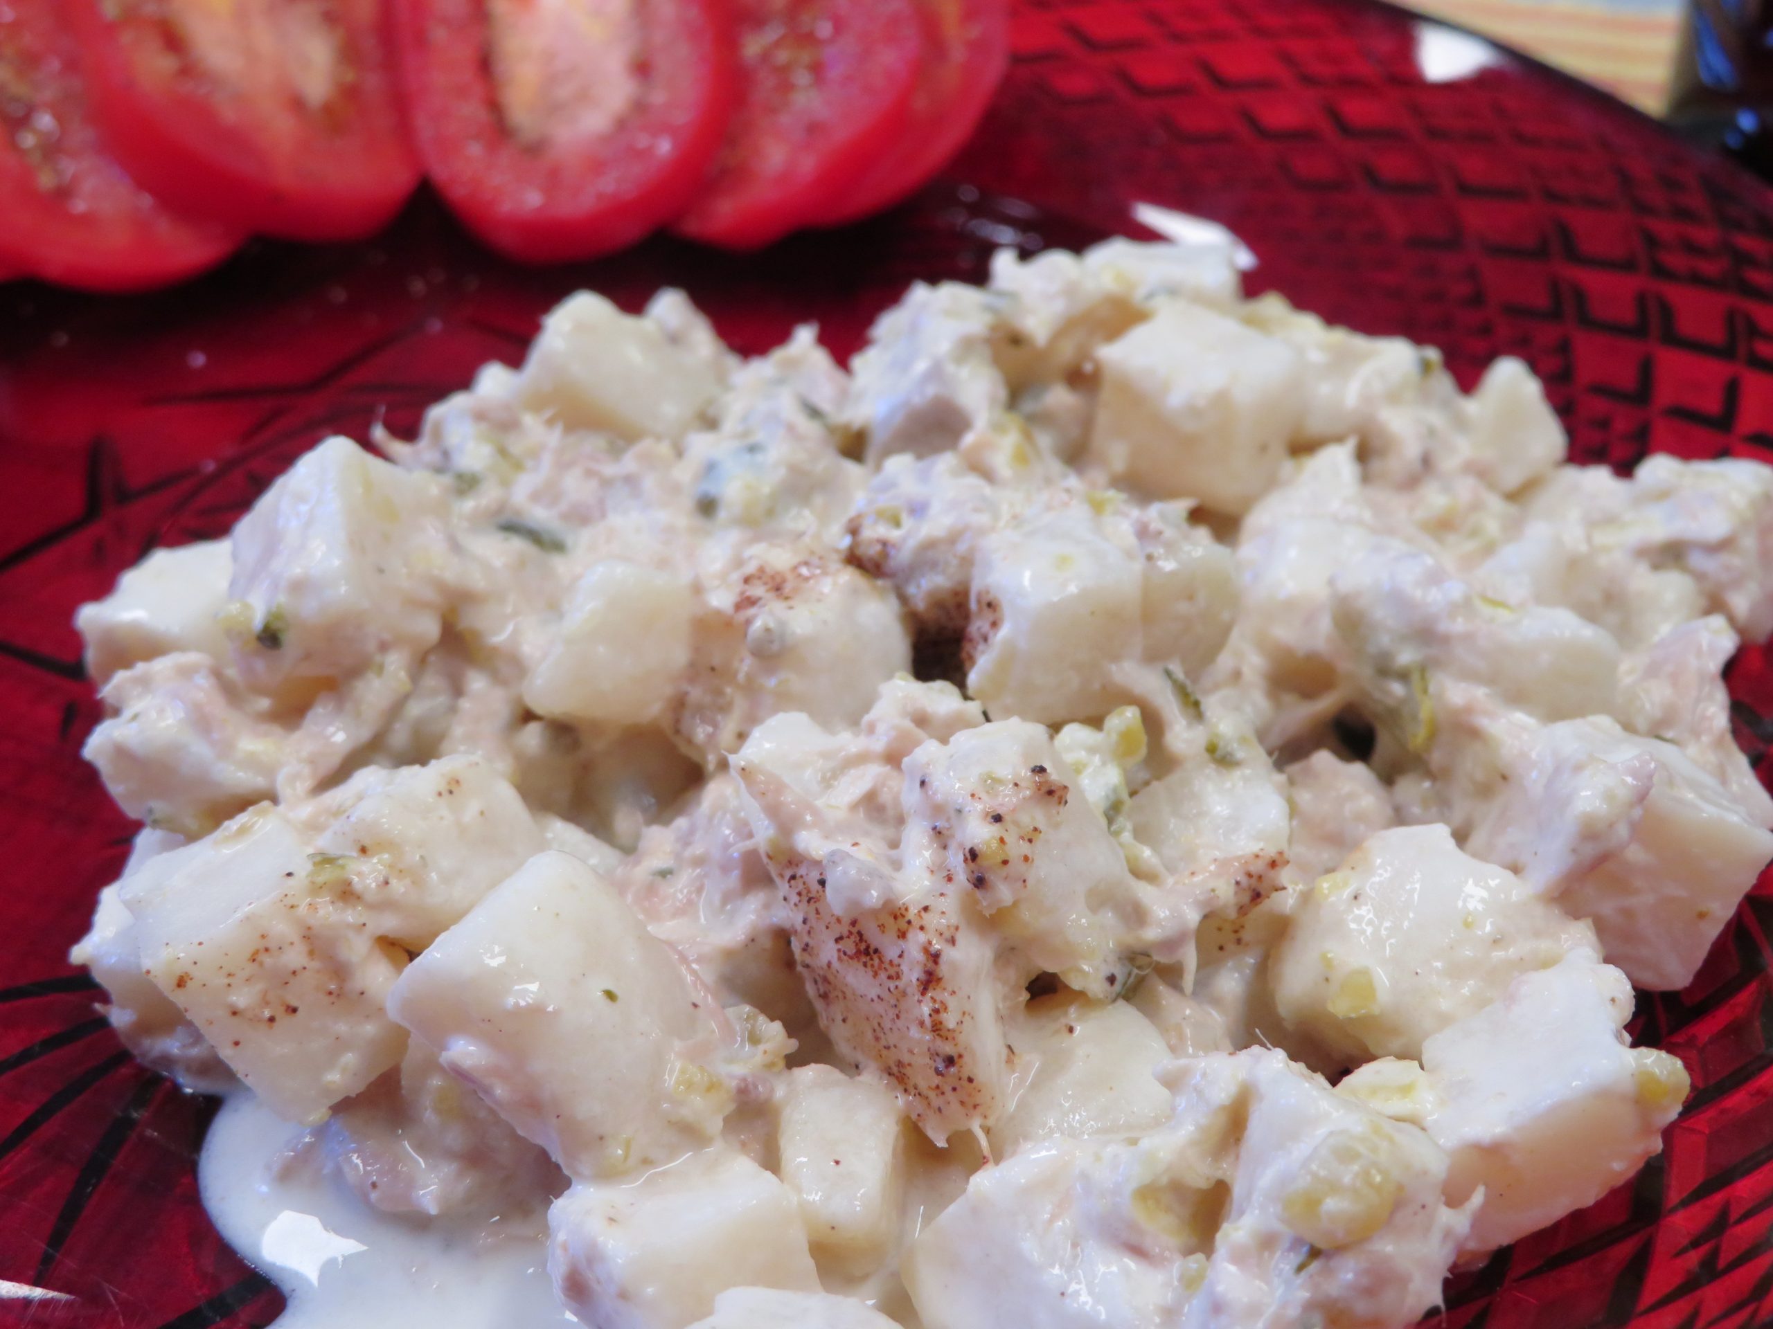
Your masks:
M227 604L232 567L227 540L154 549L117 578L110 595L82 604L74 627L87 645L92 684L103 688L119 670L174 650L227 659L227 636L216 615Z

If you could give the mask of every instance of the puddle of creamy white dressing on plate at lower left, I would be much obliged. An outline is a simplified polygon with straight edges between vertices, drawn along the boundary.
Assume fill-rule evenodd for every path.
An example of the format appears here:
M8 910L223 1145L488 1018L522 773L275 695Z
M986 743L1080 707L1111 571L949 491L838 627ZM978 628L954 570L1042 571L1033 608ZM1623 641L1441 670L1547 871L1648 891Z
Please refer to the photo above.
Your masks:
M371 1209L250 1093L216 1113L197 1164L204 1209L289 1299L277 1329L557 1329L578 1320L548 1279L546 1209L465 1221Z

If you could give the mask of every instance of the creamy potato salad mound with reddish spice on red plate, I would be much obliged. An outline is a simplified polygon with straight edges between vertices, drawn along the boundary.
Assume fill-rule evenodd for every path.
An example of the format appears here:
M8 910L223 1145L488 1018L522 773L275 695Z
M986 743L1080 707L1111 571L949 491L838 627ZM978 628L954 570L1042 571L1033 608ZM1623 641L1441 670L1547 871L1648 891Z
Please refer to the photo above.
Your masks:
M1633 989L1773 858L1773 470L1571 466L1177 236L847 369L582 292L149 555L124 1042L596 1329L1390 1329L1628 1180Z

